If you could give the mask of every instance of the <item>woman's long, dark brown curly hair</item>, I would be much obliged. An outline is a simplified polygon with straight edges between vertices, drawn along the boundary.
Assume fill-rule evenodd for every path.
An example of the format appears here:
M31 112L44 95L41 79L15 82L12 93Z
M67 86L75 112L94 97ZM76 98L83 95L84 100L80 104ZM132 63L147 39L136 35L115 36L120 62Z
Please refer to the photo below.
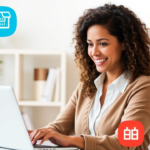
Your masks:
M123 71L130 72L130 83L139 75L150 75L150 39L146 25L123 5L105 4L95 9L85 10L75 24L75 63L80 69L84 96L96 91L94 80L101 74L96 70L88 55L87 30L92 25L103 25L119 42L124 42L122 52Z

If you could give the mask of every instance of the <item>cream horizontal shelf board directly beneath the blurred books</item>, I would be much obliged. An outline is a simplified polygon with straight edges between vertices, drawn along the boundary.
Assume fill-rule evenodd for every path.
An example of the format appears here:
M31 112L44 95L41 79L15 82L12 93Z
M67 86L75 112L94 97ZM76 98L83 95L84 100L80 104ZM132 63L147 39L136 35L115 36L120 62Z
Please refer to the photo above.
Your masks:
M60 107L60 102L39 102L34 100L18 101L19 106L43 106L43 107Z

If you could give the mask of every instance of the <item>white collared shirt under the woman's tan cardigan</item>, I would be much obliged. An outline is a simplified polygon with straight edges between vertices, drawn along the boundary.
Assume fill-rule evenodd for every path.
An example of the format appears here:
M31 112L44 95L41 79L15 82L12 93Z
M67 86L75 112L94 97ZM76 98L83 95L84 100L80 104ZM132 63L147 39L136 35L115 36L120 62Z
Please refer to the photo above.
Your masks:
M111 84L107 87L107 93L105 96L104 104L101 108L100 97L102 95L103 89L103 82L105 79L106 73L102 73L94 80L95 86L97 88L95 100L93 106L90 110L89 114L89 130L91 135L95 136L95 130L97 124L107 110L107 108L113 103L113 101L117 98L120 93L123 93L126 89L126 86L129 83L129 78L125 78L124 73L121 74L116 80L114 80ZM128 76L129 77L129 76Z

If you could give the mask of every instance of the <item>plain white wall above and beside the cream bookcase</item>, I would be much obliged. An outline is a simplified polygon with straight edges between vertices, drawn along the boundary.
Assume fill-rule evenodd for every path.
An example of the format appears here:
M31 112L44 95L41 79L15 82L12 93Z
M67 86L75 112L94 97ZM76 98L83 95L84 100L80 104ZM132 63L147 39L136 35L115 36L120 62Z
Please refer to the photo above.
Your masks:
M149 27L150 1L143 0L0 0L17 14L16 32L0 38L0 48L67 51L67 100L75 89L78 77L74 69L73 24L88 8L104 3L123 4L133 10Z

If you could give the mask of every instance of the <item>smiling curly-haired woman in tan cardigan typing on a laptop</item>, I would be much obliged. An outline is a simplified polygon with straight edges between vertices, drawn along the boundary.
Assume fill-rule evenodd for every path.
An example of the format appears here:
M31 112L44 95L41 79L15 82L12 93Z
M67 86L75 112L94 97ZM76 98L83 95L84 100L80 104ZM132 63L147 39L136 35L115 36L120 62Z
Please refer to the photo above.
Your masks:
M150 39L145 24L128 8L105 4L79 18L74 40L80 83L54 122L29 131L32 143L50 139L84 150L147 150ZM144 126L138 147L118 141L118 126L127 120Z

